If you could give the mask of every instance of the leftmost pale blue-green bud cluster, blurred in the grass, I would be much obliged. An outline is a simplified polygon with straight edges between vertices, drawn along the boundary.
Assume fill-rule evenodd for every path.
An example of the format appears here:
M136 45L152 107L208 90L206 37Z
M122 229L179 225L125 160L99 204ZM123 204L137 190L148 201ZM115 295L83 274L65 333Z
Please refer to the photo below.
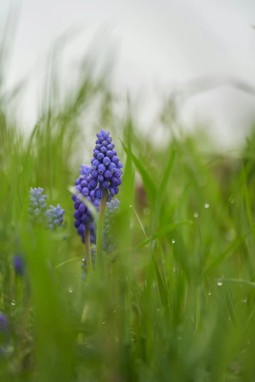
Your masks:
M29 221L35 225L43 224L43 212L47 209L46 195L43 194L43 188L38 187L30 190L30 203L27 213L30 215Z

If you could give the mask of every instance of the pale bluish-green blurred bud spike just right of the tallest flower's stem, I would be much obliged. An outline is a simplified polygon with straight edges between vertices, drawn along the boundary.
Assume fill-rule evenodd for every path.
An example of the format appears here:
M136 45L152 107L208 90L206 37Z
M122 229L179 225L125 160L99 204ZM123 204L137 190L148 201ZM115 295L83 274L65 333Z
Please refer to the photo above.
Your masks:
M104 229L102 231L103 235L103 251L113 252L116 248L116 241L114 237L114 232L116 230L116 216L119 213L120 201L116 198L110 202L106 203L108 208L106 212L106 220L104 222Z

